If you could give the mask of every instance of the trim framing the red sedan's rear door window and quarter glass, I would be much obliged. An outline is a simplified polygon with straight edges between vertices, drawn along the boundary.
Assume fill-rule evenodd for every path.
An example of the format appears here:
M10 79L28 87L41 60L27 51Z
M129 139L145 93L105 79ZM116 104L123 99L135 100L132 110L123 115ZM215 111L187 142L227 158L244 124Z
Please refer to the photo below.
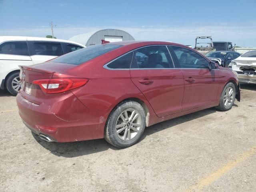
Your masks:
M118 56L117 58L115 58L115 59L111 60L110 62L108 62L108 63L104 64L103 68L108 69L108 70L146 70L146 69L154 70L154 69L177 69L177 68L175 68L175 65L174 65L173 60L172 60L172 63L173 63L173 65L174 65L174 68L131 68L132 61L131 61L131 64L130 64L130 68L113 69L113 68L109 68L109 67L108 67L108 64L110 64L111 62L113 62L113 61L117 60L118 58L120 58L120 57L122 57L122 56L124 56L124 55L126 55L126 54L128 54L128 53L130 53L130 52L136 51L136 50L141 49L141 48L145 48L145 47L152 47L152 46L165 46L165 47L166 47L166 49L168 50L168 48L167 48L167 46L168 46L168 45L166 45L166 44L163 44L163 45L158 44L158 45L146 45L146 46L142 46L142 47L139 47L139 48L133 49L133 50L131 50L131 51L129 51L129 52L127 52L127 53L125 53L125 54L122 54L122 55ZM169 54L170 54L170 51L169 51L169 50L168 50L168 52L169 52ZM171 54L170 54L170 57L171 57L171 59L172 59ZM132 56L132 58L133 58L133 56Z

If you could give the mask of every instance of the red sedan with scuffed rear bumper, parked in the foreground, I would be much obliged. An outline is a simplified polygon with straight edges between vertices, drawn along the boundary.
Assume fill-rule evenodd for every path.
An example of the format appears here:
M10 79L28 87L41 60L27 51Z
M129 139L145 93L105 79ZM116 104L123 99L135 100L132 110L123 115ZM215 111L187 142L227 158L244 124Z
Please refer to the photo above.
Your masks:
M236 72L170 42L100 44L20 68L20 117L48 142L105 138L124 148L147 126L240 101Z

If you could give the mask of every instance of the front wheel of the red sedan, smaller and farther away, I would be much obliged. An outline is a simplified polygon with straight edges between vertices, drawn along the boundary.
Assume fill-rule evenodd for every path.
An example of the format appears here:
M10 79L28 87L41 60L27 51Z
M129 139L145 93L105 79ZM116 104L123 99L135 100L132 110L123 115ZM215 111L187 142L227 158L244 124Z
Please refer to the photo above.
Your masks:
M233 83L228 83L223 88L222 93L220 95L220 103L216 107L221 111L228 111L232 108L236 97L236 87Z

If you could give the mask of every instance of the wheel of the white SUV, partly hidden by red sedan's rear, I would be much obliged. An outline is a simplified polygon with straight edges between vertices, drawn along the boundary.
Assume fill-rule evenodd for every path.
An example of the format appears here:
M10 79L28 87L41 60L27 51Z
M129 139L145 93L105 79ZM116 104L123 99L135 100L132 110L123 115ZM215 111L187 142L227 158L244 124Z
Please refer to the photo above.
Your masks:
M20 82L20 72L15 72L7 78L6 88L8 92L14 96L18 94L18 91L22 88L22 84Z

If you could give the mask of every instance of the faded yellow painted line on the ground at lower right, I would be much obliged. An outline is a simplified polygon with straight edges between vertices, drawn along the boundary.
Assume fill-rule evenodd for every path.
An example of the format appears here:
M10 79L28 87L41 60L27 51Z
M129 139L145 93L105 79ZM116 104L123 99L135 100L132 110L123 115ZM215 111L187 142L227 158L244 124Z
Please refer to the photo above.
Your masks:
M244 160L248 159L250 156L256 154L256 146L252 147L250 150L244 152L240 156L238 156L235 160L228 162L215 172L212 172L210 175L206 176L205 178L200 179L197 184L191 186L186 190L186 192L194 192L194 191L200 191L206 186L209 186L212 182L216 181L218 178L220 178L222 175L224 175L226 172L230 171L232 168L234 168L236 165L240 164Z

